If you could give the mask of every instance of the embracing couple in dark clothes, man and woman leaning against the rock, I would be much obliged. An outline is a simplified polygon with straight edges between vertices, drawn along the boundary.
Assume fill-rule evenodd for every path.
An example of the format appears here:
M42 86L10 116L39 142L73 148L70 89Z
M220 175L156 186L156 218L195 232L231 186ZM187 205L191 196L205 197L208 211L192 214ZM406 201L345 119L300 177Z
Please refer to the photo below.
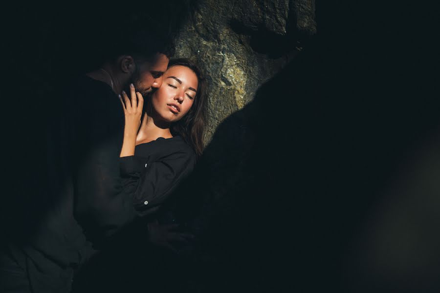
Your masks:
M150 30L118 49L59 93L50 184L31 207L42 212L1 248L1 292L70 292L78 268L111 243L174 250L191 237L158 218L202 153L206 80Z

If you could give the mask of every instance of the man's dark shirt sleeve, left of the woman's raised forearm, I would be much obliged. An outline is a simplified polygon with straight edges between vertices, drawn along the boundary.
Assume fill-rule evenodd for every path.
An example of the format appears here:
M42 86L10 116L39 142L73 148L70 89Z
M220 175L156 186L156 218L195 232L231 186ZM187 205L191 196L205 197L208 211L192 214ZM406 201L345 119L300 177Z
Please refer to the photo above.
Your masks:
M102 94L102 93L101 93ZM119 152L123 138L123 112L113 93L72 107L74 154L74 213L90 241L100 245L137 212L130 187L123 188ZM84 99L86 100L86 99Z

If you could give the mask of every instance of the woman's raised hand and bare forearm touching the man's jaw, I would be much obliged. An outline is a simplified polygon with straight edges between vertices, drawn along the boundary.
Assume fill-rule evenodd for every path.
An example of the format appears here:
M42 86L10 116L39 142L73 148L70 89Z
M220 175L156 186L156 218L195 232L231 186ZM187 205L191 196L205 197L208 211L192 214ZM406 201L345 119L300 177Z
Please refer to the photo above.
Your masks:
M144 98L141 93L135 91L133 84L130 84L130 96L131 99L128 98L125 91L122 91L122 97L119 95L119 100L121 100L125 115L124 142L122 144L120 157L134 155L137 131L141 124L142 109L144 106Z

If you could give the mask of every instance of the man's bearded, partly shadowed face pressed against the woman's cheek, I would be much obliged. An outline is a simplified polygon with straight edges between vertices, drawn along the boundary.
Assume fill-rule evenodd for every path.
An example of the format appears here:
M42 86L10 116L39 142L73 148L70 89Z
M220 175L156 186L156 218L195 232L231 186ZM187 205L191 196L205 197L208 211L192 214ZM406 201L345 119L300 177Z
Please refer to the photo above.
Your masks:
M132 84L142 96L159 88L162 84L162 75L167 70L169 59L166 55L158 53L153 62L137 64L132 76Z

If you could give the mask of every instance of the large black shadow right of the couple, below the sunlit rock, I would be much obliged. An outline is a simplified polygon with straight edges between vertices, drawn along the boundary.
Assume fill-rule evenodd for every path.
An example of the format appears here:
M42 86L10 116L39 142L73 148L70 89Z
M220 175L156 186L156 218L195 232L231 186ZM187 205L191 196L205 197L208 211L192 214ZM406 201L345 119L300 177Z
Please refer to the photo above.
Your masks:
M178 256L118 244L83 271L100 289L439 291L440 102L420 29L431 26L409 9L330 5L176 191L195 244Z

